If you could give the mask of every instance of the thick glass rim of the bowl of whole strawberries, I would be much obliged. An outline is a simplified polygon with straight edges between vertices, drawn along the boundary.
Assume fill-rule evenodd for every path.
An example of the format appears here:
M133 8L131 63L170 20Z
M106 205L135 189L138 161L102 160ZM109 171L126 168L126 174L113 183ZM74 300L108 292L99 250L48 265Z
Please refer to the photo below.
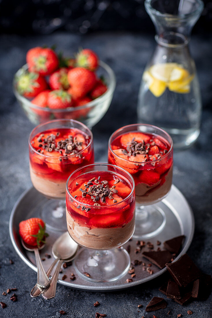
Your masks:
M25 64L24 66L22 66L21 68L19 68L19 70L15 73L14 75L14 79L13 79L13 92L16 96L16 98L23 104L25 104L27 107L31 107L34 108L36 110L42 110L45 112L51 112L51 113L66 113L66 112L74 112L74 111L78 111L78 110L83 110L83 109L87 109L90 107L93 107L95 105L97 105L98 103L104 102L105 100L107 100L114 92L115 90L115 86L116 86L116 76L114 71L112 70L112 68L102 62L101 60L99 61L99 66L101 66L109 75L109 83L108 83L108 89L105 93L103 93L101 96L95 98L94 100L91 100L90 102L88 102L85 105L82 106L75 106L75 107L67 107L64 109L59 109L59 108L49 108L49 107L40 107L36 104L32 104L31 100L28 100L26 97L22 96L21 94L18 93L17 89L16 89L16 76L18 76L21 72L21 70L27 70L27 64Z

